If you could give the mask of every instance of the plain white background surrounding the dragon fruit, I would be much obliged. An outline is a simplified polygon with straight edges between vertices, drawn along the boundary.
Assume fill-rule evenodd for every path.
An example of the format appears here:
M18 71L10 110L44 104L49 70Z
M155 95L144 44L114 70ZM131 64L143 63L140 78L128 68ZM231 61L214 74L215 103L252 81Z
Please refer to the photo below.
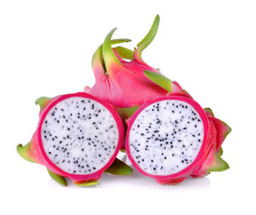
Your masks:
M255 214L255 1L1 1L1 214ZM233 131L230 169L161 186L135 171L101 185L61 187L43 166L22 160L38 122L40 96L95 82L93 52L108 31L136 46L160 14L143 59L177 80ZM137 92L135 92L137 93Z

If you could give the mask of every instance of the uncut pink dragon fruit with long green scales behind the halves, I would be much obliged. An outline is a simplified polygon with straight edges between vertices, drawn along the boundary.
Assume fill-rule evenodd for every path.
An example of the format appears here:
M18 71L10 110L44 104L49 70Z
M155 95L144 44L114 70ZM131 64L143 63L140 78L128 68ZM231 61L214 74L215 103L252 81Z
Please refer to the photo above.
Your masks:
M92 68L96 84L92 88L84 88L84 91L119 108L142 105L147 99L156 99L166 95L166 89L151 82L143 73L154 71L160 74L160 71L147 65L142 59L143 49L154 40L159 22L160 18L157 15L147 36L137 44L134 52L123 47L112 48L111 43L129 42L130 40L120 39L112 42L111 37L116 29L110 31L103 45L93 55ZM135 89L139 93L135 93ZM172 91L180 89L177 82L172 82Z

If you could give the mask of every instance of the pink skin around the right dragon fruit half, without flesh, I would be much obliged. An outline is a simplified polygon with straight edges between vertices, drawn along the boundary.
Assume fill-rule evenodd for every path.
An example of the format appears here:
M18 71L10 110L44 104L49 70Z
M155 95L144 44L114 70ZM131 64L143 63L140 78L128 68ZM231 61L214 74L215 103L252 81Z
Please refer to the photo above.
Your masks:
M190 105L192 105L195 110L199 113L201 116L201 120L204 125L204 139L201 145L201 150L199 151L197 157L195 158L195 161L189 167L186 167L179 173L174 173L171 175L166 176L159 176L159 175L153 175L148 174L143 171L138 165L137 162L134 161L134 159L131 156L130 151L130 144L129 144L129 133L131 130L131 125L137 118L137 116L140 114L140 112L146 108L148 105L151 105L155 102L165 100L165 99L176 99L188 102ZM209 173L210 168L213 165L214 162L214 156L216 153L218 153L220 145L224 141L224 137L230 133L230 127L228 127L224 122L219 121L214 116L210 115L206 110L203 110L198 103L195 102L194 99L192 99L189 96L189 93L169 93L166 97L155 99L151 101L145 102L131 118L127 121L128 124L128 130L126 135L126 152L127 156L129 157L131 163L133 166L144 175L154 178L159 184L179 184L182 182L185 178L192 176L192 177L202 177Z

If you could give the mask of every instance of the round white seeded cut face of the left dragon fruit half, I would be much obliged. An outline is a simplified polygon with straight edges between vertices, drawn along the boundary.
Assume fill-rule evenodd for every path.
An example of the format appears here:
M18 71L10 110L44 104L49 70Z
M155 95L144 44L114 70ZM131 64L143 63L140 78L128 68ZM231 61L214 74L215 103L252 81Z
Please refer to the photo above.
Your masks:
M109 166L118 153L120 125L117 113L87 93L61 96L43 113L38 143L49 164L65 173L87 175Z

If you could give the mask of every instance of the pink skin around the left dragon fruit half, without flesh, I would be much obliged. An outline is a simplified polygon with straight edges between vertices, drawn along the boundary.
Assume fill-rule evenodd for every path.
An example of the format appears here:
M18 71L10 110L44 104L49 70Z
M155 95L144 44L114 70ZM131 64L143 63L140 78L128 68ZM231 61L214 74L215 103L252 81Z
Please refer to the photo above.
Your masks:
M119 142L116 147L116 150L113 154L113 156L110 158L108 163L102 167L100 170L98 170L96 173L91 173L91 174L86 174L86 175L76 175L76 174L71 174L71 173L66 173L61 170L61 168L55 166L55 164L49 160L49 157L46 155L44 151L44 146L43 142L41 139L41 128L42 128L42 123L44 122L44 118L47 116L49 110L51 110L57 103L61 102L63 99L71 98L71 97L83 97L87 99L93 99L105 106L113 115L113 118L117 122L118 129L119 129ZM124 136L124 127L123 124L119 118L119 115L116 113L116 111L113 109L112 105L108 105L106 103L103 103L100 99L96 99L95 97L91 96L88 93L73 93L73 94L66 94L66 95L61 95L60 97L57 97L55 99L52 99L49 104L42 110L40 113L40 120L38 123L38 129L36 133L34 133L33 138L32 138L32 144L30 148L30 156L32 157L33 160L37 161L40 164L43 164L45 167L47 167L51 172L61 175L66 178L71 178L75 183L84 183L84 182L90 182L90 181L96 181L98 178L101 177L102 173L110 167L110 165L113 163L115 157L117 156L120 146L123 141L123 136Z

